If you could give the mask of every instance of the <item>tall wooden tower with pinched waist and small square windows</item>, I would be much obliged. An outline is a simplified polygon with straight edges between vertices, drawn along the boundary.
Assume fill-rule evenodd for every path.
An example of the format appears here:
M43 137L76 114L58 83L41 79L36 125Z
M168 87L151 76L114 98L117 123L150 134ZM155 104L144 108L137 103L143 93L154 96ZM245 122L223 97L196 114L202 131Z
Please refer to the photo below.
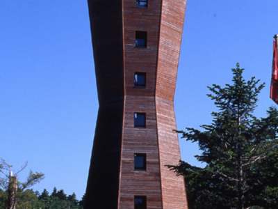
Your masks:
M88 0L99 113L85 209L187 208L174 89L186 0Z

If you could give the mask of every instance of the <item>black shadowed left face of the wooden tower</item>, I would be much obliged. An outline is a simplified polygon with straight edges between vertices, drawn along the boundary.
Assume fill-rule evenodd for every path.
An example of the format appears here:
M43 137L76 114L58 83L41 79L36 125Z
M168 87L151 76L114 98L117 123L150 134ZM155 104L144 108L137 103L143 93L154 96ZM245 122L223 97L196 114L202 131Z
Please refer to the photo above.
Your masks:
M124 114L122 0L88 0L99 113L85 209L117 208Z

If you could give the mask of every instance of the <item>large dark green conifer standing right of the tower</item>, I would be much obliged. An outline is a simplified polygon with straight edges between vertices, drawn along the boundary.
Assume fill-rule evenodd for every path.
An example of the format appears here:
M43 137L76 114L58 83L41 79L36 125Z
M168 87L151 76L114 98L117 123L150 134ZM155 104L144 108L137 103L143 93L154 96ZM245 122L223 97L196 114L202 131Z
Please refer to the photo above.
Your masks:
M265 84L254 77L245 82L243 70L237 63L232 85L208 87L218 107L210 125L177 131L199 144L202 154L195 157L206 163L203 169L186 162L168 165L185 176L190 208L277 207L278 111L270 107L265 118L253 115Z

